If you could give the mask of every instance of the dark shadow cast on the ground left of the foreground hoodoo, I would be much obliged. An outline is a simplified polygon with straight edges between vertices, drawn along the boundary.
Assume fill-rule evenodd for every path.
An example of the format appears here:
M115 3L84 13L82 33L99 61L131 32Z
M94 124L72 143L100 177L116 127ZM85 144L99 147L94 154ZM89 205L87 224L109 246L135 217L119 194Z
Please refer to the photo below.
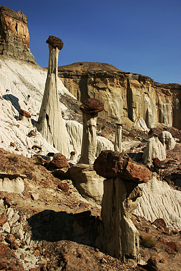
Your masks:
M33 240L70 240L95 246L99 219L95 216L75 219L72 213L44 210L31 216L28 224L32 228Z

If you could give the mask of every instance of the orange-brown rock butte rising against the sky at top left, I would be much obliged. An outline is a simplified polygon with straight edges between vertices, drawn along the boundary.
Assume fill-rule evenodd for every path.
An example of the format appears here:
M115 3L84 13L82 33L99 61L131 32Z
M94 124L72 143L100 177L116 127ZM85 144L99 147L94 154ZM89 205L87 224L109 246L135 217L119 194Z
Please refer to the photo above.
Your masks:
M27 16L21 11L0 7L0 54L35 62L30 52Z

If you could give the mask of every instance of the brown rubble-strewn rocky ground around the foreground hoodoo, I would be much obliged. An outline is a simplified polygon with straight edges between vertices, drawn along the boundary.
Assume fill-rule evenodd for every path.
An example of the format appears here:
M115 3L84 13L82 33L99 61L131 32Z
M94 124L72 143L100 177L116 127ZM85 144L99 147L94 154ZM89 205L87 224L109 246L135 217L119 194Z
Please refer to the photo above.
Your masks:
M1 270L180 270L180 232L133 215L142 266L132 267L96 248L101 206L83 199L71 180L2 149L0 171L26 175L23 193L0 192Z

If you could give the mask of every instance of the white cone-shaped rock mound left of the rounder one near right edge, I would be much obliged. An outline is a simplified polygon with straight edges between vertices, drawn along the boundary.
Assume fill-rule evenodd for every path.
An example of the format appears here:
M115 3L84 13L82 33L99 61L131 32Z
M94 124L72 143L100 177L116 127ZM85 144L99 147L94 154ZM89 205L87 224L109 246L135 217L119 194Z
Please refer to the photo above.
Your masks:
M152 165L152 159L158 158L160 161L166 159L165 149L158 137L151 137L147 140L146 148L143 154L144 164Z

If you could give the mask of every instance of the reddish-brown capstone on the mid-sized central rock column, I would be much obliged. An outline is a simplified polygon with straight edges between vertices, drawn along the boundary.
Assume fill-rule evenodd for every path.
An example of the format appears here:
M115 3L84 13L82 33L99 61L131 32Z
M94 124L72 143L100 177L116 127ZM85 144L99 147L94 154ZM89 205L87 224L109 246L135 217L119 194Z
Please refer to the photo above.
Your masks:
M84 113L94 114L104 110L104 104L95 98L89 98L80 105L80 110Z

